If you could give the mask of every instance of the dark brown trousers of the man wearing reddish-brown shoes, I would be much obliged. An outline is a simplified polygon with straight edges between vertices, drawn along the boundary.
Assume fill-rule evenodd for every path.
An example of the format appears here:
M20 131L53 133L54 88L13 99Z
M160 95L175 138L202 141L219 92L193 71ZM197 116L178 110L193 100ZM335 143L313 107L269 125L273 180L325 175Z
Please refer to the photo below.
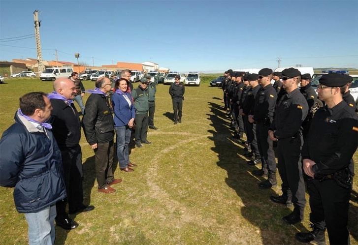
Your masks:
M113 140L107 143L98 144L98 147L94 152L98 189L102 189L114 180L112 170L114 154Z

